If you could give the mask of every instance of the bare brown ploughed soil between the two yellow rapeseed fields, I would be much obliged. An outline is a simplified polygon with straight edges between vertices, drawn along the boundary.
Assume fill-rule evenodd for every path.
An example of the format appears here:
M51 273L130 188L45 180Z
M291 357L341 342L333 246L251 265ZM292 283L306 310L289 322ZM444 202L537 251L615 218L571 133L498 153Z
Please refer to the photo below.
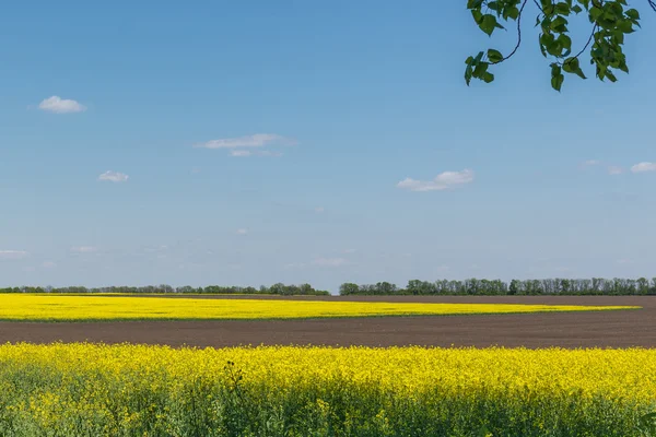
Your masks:
M202 296L203 298L245 298ZM280 298L267 296L265 298ZM288 299L290 297L286 297ZM636 305L640 310L536 315L383 317L279 321L0 322L0 343L104 342L171 346L656 347L655 297L291 297L314 300Z

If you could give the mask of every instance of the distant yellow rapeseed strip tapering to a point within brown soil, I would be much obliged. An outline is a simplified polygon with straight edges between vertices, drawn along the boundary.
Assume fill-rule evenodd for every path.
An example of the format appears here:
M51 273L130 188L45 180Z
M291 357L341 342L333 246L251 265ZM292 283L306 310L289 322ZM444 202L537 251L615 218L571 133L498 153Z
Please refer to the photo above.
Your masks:
M229 320L326 317L444 316L635 309L629 306L411 304L166 297L0 296L0 320Z

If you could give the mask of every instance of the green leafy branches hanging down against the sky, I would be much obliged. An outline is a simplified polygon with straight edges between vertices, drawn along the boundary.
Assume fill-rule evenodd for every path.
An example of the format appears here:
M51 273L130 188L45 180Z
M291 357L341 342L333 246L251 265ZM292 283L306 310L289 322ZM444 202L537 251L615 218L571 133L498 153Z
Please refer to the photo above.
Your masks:
M656 0L646 0L656 11ZM490 48L467 58L465 81L472 79L485 83L494 81L489 69L511 59L522 46L522 19L527 11L528 0L467 0L467 9L473 21L488 36L496 29L505 29L501 23L515 22L517 43L508 55ZM617 81L617 70L629 72L623 51L624 36L640 27L640 12L629 8L626 0L532 0L537 8L536 27L539 27L539 47L542 56L550 59L551 86L561 91L564 73L587 79L581 67L581 57L589 55L595 66L595 75L604 81ZM587 43L575 55L572 51L570 20L585 14L590 24Z

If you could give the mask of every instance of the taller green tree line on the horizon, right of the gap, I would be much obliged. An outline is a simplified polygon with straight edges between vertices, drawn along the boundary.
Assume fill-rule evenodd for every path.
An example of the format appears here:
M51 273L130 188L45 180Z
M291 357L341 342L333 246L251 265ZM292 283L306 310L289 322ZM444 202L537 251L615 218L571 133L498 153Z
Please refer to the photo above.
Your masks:
M342 284L339 287L341 296L363 295L466 295L466 296L526 296L526 295L656 295L656 277L637 280L593 277L589 280L478 280L465 281L419 281L408 282L405 288L389 282L358 285Z

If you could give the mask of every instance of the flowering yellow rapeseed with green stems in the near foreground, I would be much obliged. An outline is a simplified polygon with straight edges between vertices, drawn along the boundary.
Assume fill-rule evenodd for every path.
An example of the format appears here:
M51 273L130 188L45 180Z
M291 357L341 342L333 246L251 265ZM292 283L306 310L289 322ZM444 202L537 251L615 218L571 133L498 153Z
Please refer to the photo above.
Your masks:
M0 346L1 436L641 436L656 351Z

